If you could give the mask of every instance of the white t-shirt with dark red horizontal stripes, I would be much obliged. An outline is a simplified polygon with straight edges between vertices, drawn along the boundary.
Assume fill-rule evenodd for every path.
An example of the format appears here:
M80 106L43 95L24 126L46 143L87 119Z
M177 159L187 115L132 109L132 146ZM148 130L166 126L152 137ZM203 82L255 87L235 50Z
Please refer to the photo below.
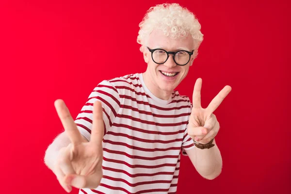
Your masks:
M155 97L141 73L100 82L75 123L90 140L93 103L103 107L103 177L96 189L79 194L173 194L181 151L194 147L187 133L192 104L174 91Z

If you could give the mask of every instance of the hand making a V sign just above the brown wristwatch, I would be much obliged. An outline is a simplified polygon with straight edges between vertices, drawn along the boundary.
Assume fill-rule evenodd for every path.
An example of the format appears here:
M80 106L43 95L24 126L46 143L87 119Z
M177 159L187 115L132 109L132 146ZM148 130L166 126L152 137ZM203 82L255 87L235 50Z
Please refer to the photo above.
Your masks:
M217 135L220 128L213 112L231 91L231 87L226 85L218 95L212 99L208 107L203 109L201 107L201 86L202 79L198 78L194 85L193 108L188 124L188 134L196 142L207 144Z

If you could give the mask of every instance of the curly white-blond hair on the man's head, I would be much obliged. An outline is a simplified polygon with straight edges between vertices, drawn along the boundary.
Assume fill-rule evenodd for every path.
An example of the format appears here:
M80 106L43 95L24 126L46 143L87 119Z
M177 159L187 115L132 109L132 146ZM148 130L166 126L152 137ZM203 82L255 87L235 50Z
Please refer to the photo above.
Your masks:
M187 8L181 7L178 3L164 3L151 7L146 12L142 22L137 42L141 44L140 50L147 44L149 34L154 29L162 30L165 36L173 39L184 38L191 34L194 41L194 58L198 54L198 48L203 41L201 25L197 18Z

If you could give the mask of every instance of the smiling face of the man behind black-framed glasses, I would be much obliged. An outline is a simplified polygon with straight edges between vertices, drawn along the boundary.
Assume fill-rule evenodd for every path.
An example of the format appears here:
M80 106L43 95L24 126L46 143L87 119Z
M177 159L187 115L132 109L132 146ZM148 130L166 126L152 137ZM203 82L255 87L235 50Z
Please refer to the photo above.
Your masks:
M154 30L148 39L146 45L150 49L165 49L166 51L187 50L192 51L194 48L193 39L188 35L183 39L173 40L166 37L161 30ZM186 77L189 67L193 64L194 56L192 55L187 65L177 65L170 54L164 64L156 64L151 57L151 52L144 48L144 59L147 63L146 79L151 89L159 92L172 93L178 84ZM164 75L167 74L167 75ZM174 75L174 76L173 76Z

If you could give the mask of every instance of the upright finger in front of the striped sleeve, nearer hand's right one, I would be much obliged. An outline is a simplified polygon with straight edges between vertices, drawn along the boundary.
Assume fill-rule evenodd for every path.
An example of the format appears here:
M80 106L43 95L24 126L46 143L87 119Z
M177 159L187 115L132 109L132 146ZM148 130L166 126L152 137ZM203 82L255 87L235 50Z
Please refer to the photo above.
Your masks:
M103 111L101 102L95 101L93 105L93 127L91 131L91 140L95 145L101 145L104 133Z

